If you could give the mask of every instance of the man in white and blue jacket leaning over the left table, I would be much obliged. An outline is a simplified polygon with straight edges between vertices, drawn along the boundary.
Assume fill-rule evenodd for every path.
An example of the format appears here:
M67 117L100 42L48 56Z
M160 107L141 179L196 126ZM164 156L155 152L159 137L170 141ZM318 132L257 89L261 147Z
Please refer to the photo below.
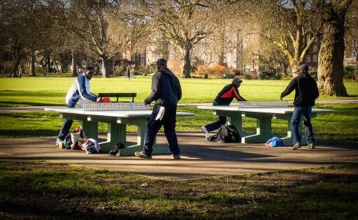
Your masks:
M66 105L68 108L82 107L87 101L102 102L101 98L94 96L90 91L90 80L92 79L93 73L94 68L89 66L85 68L85 72L73 82L73 85L66 94ZM72 119L64 119L56 140L57 146L62 144L64 138L66 138L72 123Z

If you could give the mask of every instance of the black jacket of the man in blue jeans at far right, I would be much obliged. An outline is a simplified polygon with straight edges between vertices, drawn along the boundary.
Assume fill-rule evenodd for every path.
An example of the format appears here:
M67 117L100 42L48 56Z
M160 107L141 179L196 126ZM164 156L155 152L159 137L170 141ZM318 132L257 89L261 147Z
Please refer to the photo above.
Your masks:
M285 91L282 91L281 98L289 95L294 90L294 106L313 106L315 105L315 99L320 96L317 82L308 73L300 74L291 80Z

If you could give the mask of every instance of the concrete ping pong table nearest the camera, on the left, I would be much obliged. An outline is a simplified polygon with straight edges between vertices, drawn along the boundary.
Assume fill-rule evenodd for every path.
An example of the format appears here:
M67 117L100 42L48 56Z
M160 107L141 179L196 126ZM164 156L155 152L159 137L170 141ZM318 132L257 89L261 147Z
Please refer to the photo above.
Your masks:
M109 152L118 142L122 142L124 149L120 149L117 156L133 156L134 152L141 151L143 147L145 131L147 131L147 118L152 113L149 106L143 108L143 103L92 103L96 106L122 106L122 109L113 107L106 110L96 110L93 108L67 108L52 107L45 108L47 111L59 112L65 119L74 119L80 121L83 131L87 138L93 138L99 141L101 150ZM124 106L124 108L123 108ZM177 116L192 116L192 112L177 112ZM107 139L103 141L98 137L98 124L105 122L108 124ZM138 126L137 142L127 142L127 124ZM101 142L102 141L102 142ZM169 154L169 147L164 145L153 146L153 154Z

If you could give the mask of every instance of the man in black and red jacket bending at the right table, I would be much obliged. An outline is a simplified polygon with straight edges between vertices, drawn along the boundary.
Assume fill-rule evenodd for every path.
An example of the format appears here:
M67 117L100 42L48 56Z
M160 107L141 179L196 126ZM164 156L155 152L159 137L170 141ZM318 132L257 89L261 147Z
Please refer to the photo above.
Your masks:
M238 76L235 76L235 78L232 80L232 83L226 85L219 92L219 94L217 94L215 100L213 101L213 105L230 105L234 98L236 98L237 101L246 101L246 99L243 98L238 92L238 87L240 87L241 82L243 82L243 80L241 80L241 78L239 78ZM209 138L210 131L219 129L220 126L224 125L225 123L227 123L227 117L219 115L219 120L217 120L216 122L201 126L201 130L203 130L203 132L205 133L206 140L208 140Z

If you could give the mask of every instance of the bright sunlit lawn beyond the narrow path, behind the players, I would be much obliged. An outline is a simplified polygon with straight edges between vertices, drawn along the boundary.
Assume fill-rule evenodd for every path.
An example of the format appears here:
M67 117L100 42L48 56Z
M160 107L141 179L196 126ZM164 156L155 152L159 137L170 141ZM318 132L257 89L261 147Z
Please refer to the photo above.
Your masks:
M0 78L0 106L64 105L64 97L75 78ZM180 79L180 103L210 103L231 80ZM150 77L92 78L91 91L136 92L135 101L141 102L150 94ZM278 101L289 80L244 80L241 95L249 101ZM358 96L358 82L345 81L350 97L320 96L318 100L353 99ZM294 93L285 100L293 100Z

